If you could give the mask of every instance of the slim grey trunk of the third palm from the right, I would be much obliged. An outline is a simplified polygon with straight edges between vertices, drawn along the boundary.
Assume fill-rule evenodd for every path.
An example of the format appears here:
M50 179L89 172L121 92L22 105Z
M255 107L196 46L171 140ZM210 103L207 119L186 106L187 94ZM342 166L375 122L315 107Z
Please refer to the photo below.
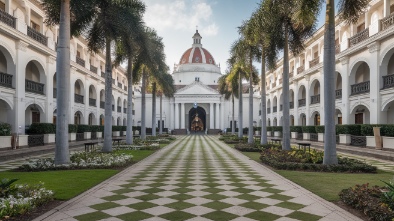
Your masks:
M267 108L265 91L265 51L262 50L261 58L261 137L260 144L268 144L267 140Z

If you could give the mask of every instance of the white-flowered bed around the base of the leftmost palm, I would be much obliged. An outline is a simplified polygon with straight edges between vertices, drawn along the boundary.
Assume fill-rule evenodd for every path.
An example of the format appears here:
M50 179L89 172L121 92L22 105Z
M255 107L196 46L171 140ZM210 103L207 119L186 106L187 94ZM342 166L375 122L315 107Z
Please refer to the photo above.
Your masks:
M21 165L17 171L45 171L65 169L106 169L131 164L133 156L127 154L101 152L75 152L70 156L70 164L55 165L53 158L36 159Z

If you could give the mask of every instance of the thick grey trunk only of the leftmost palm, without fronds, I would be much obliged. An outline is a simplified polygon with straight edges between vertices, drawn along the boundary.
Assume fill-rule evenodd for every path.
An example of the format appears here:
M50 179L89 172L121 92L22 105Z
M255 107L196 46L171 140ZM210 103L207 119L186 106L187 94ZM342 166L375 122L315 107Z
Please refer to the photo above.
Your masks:
M55 164L69 164L68 116L70 91L70 0L61 1L56 61L57 119Z

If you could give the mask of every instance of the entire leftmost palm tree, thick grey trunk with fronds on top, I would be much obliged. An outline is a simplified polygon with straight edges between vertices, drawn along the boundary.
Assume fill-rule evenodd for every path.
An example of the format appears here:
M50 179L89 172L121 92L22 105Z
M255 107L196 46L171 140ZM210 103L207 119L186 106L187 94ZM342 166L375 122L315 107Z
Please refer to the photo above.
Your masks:
M69 91L70 91L70 36L76 36L88 24L87 11L92 10L92 1L76 0L43 0L46 12L45 23L49 26L59 24L57 42L56 77L57 77L57 122L55 164L69 164L70 152L68 144ZM73 20L71 21L71 14Z

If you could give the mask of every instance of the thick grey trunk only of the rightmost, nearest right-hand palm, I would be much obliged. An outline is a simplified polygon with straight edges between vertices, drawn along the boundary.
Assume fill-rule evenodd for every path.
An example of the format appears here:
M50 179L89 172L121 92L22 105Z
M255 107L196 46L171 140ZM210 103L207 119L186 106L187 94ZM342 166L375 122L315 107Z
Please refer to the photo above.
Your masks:
M324 158L323 164L338 164L335 140L335 17L334 0L327 0L324 33Z

